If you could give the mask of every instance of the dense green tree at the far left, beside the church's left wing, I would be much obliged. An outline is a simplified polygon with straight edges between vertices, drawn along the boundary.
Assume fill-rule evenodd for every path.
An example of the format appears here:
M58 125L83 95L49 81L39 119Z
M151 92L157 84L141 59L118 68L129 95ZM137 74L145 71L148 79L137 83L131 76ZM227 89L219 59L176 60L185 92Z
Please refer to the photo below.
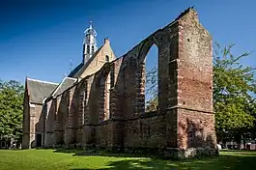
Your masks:
M20 140L24 87L17 81L0 81L0 137Z

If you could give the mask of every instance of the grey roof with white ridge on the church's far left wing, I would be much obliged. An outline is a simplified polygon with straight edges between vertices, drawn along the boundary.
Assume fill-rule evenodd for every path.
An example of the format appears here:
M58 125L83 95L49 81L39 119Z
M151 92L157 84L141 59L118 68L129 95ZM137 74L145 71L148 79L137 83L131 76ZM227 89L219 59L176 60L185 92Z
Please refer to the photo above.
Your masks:
M43 103L50 93L58 86L58 83L26 78L26 87L29 94L29 101Z

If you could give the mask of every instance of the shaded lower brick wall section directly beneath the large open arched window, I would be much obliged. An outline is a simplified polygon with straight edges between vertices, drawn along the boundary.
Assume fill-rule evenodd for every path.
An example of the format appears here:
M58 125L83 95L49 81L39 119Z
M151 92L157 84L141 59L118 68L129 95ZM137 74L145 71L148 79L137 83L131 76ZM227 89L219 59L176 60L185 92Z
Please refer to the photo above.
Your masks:
M124 147L165 147L165 117L156 112L124 121Z

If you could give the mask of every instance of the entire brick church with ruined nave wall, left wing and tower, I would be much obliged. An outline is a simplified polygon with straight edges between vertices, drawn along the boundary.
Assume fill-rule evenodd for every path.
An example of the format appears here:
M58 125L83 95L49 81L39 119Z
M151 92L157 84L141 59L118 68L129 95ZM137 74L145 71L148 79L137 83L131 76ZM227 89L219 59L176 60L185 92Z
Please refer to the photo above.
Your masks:
M26 77L22 148L93 147L166 157L216 155L213 42L188 8L128 53L85 30L83 58L60 83ZM145 111L145 60L158 49L158 106Z

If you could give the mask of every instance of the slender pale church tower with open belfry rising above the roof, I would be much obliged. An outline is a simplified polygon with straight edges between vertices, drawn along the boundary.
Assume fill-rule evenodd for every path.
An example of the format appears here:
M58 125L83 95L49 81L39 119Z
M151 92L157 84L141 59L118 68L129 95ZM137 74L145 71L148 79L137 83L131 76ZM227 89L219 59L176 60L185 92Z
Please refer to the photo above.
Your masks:
M88 60L93 56L95 51L97 51L97 42L96 36L97 33L93 29L92 21L90 21L90 26L84 31L84 40L83 40L83 65L85 65Z

